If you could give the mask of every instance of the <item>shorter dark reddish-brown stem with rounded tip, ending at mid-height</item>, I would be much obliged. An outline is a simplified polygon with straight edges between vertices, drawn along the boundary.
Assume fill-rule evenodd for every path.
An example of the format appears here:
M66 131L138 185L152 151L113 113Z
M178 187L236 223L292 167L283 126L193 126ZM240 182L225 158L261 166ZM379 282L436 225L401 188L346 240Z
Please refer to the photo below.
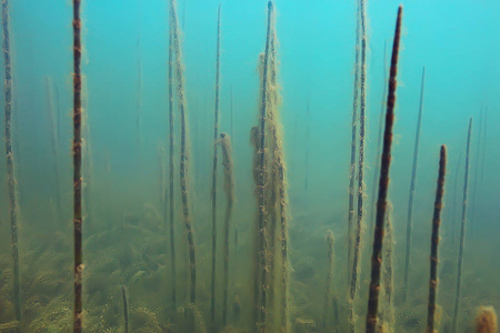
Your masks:
M439 158L438 189L436 190L434 214L432 218L429 302L427 305L427 332L434 332L436 292L438 289L438 245L439 225L441 224L442 195L444 193L444 175L447 173L447 148L441 145Z

